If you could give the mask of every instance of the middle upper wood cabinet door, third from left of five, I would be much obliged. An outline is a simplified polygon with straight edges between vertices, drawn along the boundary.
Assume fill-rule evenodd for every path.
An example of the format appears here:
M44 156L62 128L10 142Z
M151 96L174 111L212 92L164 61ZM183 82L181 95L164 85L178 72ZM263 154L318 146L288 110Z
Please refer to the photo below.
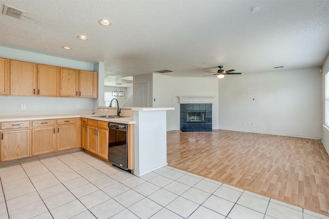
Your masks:
M38 64L38 96L59 96L59 67Z

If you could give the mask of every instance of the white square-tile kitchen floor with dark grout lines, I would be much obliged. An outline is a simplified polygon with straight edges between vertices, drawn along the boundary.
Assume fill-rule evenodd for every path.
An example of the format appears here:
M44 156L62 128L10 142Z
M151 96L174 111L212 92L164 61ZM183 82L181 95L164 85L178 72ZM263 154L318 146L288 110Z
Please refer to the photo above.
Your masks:
M84 152L0 169L0 218L329 218L169 166L134 176Z

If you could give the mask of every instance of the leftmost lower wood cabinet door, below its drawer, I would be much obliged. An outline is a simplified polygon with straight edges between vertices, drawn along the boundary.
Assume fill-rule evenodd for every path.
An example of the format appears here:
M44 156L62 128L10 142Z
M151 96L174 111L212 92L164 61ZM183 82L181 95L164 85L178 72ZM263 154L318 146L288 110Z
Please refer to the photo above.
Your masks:
M14 130L1 133L1 161L29 156L30 130Z

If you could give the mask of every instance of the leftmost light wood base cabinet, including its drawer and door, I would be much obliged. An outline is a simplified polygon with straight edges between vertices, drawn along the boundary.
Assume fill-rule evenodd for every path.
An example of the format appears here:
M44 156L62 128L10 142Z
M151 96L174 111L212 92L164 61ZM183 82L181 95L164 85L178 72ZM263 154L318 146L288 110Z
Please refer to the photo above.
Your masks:
M1 124L1 161L10 161L30 155L30 123Z

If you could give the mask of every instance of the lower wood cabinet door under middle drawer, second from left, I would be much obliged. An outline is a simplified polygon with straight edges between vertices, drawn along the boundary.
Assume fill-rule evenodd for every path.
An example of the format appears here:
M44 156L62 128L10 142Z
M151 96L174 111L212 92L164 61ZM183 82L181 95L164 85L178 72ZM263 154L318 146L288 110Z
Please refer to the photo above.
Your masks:
M32 156L56 150L54 127L32 129Z

